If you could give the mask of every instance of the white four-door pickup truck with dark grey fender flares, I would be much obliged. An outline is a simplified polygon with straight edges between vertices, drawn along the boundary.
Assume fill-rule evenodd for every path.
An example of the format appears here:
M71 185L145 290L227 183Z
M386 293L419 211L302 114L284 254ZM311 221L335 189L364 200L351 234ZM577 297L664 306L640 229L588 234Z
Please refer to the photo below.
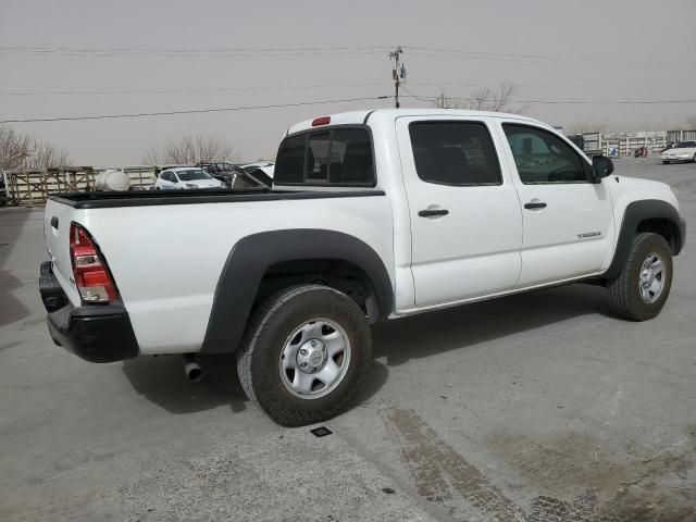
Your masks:
M95 362L182 353L196 373L236 352L273 420L319 422L358 391L380 320L576 281L622 318L657 315L685 224L667 185L612 171L520 115L309 120L272 189L52 196L49 330Z

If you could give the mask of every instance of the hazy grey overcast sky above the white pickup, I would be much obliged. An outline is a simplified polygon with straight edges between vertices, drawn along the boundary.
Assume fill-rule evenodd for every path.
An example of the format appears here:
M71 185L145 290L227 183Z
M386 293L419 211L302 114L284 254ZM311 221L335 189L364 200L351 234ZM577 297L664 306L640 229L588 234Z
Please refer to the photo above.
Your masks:
M0 0L0 120L390 95L377 47L396 45L421 48L403 53L406 87L420 97L508 80L519 100L696 99L695 0ZM313 50L326 47L346 49ZM261 51L275 48L312 50ZM391 103L13 125L75 164L139 164L149 146L184 133L228 139L239 160L256 160L273 158L296 121ZM694 102L525 104L567 128L663 129L696 114Z

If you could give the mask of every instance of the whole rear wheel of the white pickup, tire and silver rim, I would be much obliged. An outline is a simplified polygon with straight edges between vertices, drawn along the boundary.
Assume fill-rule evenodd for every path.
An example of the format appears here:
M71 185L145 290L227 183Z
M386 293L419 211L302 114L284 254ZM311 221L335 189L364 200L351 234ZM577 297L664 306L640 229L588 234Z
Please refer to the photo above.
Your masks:
M249 323L237 355L245 394L284 426L328 420L355 398L372 358L364 312L319 285L286 288Z

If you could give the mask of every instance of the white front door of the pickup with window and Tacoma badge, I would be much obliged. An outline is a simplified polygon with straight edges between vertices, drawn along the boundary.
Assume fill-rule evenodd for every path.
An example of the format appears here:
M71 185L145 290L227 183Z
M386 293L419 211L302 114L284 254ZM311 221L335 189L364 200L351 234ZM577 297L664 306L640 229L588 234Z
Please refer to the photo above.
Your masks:
M523 215L519 288L601 272L610 262L613 213L606 184L588 179L587 159L557 133L502 121L501 135Z

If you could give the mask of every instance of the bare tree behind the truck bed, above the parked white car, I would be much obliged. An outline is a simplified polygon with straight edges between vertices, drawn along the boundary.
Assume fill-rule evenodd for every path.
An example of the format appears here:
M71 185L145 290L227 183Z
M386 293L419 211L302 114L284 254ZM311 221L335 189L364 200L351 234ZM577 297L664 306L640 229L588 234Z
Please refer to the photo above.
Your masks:
M214 136L185 135L172 139L163 146L150 147L145 152L144 162L151 165L191 164L210 161L234 160L234 147Z

